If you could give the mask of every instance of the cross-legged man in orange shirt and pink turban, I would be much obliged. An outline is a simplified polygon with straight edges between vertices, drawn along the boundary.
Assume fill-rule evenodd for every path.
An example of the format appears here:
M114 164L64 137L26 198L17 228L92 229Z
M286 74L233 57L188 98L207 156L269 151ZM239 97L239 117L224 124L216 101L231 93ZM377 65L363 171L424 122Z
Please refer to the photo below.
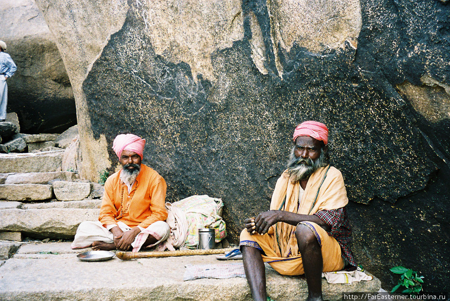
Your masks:
M112 149L122 168L107 178L96 222L82 222L72 249L137 252L158 245L170 235L165 223L166 184L150 167L141 164L145 139L133 134L115 137Z

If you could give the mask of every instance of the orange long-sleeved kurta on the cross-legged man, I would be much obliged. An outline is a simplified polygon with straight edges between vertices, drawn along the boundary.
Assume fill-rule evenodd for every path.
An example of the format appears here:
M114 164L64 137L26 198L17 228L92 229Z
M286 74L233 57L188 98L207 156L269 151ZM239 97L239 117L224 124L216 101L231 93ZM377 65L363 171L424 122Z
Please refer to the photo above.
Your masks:
M120 172L111 175L104 184L104 194L98 220L103 227L117 225L123 222L129 227L146 228L156 221L165 221L165 191L167 185L164 179L150 167L141 164L140 172L130 193L120 180ZM123 211L120 216L120 200Z

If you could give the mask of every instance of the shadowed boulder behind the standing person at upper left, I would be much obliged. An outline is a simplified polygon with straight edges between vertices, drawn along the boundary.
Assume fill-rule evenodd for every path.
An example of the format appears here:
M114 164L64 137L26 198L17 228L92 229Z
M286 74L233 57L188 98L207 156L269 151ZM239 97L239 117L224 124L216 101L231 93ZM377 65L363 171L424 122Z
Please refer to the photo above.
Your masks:
M0 3L1 39L17 71L8 79L8 112L23 133L62 132L76 123L75 101L54 38L33 0Z

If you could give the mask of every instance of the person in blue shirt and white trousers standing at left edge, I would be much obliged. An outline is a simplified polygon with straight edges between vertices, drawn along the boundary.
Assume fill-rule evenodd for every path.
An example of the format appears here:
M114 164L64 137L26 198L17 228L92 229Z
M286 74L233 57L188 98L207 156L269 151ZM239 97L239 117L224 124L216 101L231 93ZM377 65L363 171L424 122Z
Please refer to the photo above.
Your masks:
M6 43L0 41L0 121L6 119L6 105L8 102L8 85L6 79L14 75L17 67L12 58L4 52Z

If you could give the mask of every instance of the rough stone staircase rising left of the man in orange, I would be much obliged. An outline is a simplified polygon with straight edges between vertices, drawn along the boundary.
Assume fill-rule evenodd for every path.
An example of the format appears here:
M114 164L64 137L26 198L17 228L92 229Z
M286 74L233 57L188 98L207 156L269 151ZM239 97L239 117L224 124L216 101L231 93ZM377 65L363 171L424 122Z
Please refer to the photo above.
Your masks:
M76 143L77 131L70 131L16 133L10 141L21 139L28 152L0 154L0 240L71 239L80 222L97 219L103 187L62 170Z

